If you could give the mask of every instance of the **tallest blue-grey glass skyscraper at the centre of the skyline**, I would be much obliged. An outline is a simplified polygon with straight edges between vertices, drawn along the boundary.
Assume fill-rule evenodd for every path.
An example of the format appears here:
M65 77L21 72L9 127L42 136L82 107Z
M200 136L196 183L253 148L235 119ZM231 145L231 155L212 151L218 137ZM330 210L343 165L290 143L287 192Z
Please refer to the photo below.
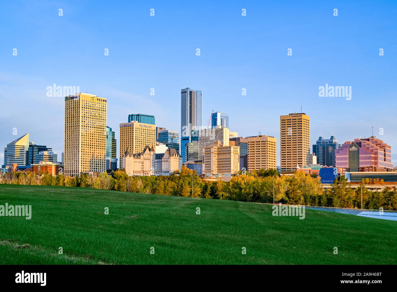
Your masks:
M201 101L200 90L181 89L181 156L183 163L185 163L185 143L195 141L195 138L192 137L196 137L194 133L197 132L193 131L201 130Z

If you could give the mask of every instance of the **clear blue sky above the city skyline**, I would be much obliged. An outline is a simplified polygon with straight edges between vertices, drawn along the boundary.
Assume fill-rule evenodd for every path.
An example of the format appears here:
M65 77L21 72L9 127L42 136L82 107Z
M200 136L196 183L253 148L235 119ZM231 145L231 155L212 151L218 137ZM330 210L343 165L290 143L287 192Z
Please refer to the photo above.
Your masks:
M17 137L30 132L60 160L64 99L46 96L53 83L107 98L116 139L119 123L138 112L179 131L180 89L191 87L202 90L203 125L219 110L240 136L261 133L279 142L279 116L299 112L302 103L312 144L320 133L341 144L368 137L374 126L397 164L397 2L307 2L2 3L0 164L16 139L13 128ZM319 97L326 83L351 86L351 100Z

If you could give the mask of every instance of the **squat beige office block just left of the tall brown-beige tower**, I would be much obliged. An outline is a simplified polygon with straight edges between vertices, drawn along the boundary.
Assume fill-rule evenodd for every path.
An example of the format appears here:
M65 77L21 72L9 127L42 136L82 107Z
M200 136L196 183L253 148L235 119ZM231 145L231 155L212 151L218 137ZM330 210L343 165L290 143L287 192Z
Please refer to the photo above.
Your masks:
M258 135L248 139L248 171L277 169L277 139L272 136Z

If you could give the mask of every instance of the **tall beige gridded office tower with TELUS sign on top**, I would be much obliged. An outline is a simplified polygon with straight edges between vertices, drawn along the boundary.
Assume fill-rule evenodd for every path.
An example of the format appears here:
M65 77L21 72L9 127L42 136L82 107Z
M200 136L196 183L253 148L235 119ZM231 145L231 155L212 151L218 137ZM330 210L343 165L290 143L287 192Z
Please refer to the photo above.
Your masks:
M65 97L65 175L106 171L106 102L87 93Z

